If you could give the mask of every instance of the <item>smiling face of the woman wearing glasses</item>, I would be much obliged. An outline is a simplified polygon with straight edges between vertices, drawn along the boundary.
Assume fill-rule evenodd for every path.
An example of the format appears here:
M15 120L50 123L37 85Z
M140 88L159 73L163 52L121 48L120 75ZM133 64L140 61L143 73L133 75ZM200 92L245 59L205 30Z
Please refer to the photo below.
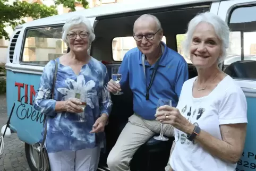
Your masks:
M84 24L73 25L67 32L67 39L70 50L75 53L85 52L89 48L89 32Z

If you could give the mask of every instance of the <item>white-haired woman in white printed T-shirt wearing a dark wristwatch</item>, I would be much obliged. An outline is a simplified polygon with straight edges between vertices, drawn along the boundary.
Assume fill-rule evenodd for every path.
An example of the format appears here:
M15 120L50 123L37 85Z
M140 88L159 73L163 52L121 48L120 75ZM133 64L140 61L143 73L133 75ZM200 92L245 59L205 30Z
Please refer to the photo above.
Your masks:
M182 87L177 107L159 107L156 120L175 127L170 170L234 171L246 135L247 104L242 89L222 72L229 28L210 12L189 23L184 51L198 76Z

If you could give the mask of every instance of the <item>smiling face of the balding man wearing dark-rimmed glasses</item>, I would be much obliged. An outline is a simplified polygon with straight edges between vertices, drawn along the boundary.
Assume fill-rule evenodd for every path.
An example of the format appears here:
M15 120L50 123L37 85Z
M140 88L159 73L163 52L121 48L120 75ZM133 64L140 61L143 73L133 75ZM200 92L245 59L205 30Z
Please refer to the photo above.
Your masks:
M142 38L141 41L136 41L137 47L147 56L147 54L154 53L163 38L163 30L159 30L157 23L153 18L139 19L134 23L134 36ZM144 36L143 36L144 35ZM152 40L146 39L153 38Z

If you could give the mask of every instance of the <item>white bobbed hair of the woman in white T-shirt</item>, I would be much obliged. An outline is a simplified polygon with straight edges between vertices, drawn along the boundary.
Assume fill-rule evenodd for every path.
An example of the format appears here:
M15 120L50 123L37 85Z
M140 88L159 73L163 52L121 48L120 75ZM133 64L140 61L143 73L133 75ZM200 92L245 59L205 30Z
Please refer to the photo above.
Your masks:
M215 33L221 41L221 56L218 58L218 64L222 63L227 54L227 49L229 47L229 27L227 23L219 18L218 15L204 12L196 15L188 24L186 38L183 41L183 52L186 57L190 57L190 46L192 42L193 33L197 25L201 22L206 22L212 25L215 29Z

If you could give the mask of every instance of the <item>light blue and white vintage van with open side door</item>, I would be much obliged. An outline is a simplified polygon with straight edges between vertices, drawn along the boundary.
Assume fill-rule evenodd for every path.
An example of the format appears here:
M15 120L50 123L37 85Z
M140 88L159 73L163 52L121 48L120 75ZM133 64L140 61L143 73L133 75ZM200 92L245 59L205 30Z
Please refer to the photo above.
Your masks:
M187 23L202 11L219 15L232 30L231 48L228 50L227 59L229 65L225 65L224 69L227 74L233 76L246 95L249 121L243 156L238 161L236 170L256 170L256 61L253 61L255 57L244 60L247 59L245 56L256 56L256 1L253 0L127 2L56 15L16 27L8 46L6 62L7 112L10 114L15 103L10 128L24 142L31 170L37 170L38 162L33 155L31 144L38 142L44 121L44 115L35 110L32 103L45 64L69 50L61 39L62 27L67 19L74 15L89 18L96 35L90 54L106 64L111 78L111 67L120 65L125 52L135 46L132 39L133 23L139 15L156 15L164 29L167 46L182 54L178 39L185 33ZM189 63L189 76L193 78L197 73L190 60L186 61ZM133 114L132 93L129 90L123 91L121 96L112 96L114 106L109 125L106 126L107 149L101 155L98 170L109 170L106 165L107 155L127 118ZM131 169L164 170L171 146L172 139L167 142L150 139L135 153Z

